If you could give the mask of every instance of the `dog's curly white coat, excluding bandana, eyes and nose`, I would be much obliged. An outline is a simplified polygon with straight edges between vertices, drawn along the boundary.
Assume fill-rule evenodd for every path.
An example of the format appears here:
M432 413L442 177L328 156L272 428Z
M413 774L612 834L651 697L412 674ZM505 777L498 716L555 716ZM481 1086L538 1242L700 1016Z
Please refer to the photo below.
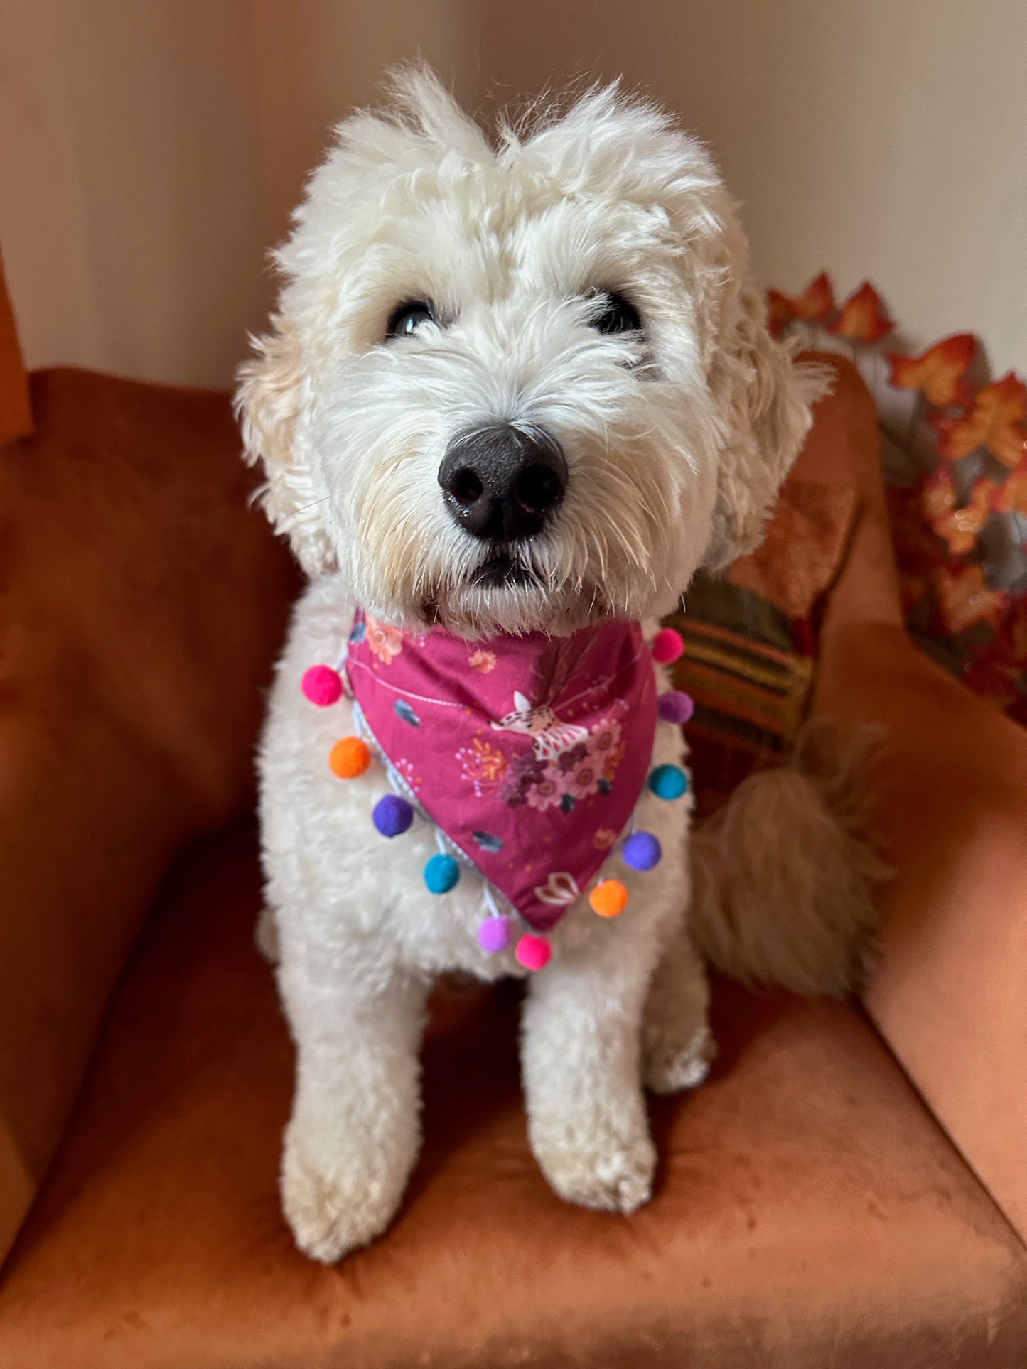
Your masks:
M303 671L338 656L356 602L467 637L661 615L698 565L759 542L817 381L767 334L705 149L616 86L490 141L429 74L401 77L388 112L340 125L278 264L274 330L238 405L267 512L312 585L260 754L274 909L262 941L281 954L299 1050L285 1210L299 1244L334 1259L385 1229L415 1162L431 979L522 971L478 947L481 880L433 898L430 836L386 847L375 834L383 779L331 776L348 704L316 713ZM641 333L593 327L603 290L630 297ZM386 340L405 300L433 301L438 322ZM568 483L524 549L531 578L489 587L474 574L486 550L448 516L437 474L457 433L497 420L553 434ZM679 728L660 726L655 758L683 760ZM672 1090L705 1073L689 809L642 797L664 860L629 873L616 921L575 906L529 984L531 1144L557 1192L593 1207L630 1212L649 1195L642 1079Z

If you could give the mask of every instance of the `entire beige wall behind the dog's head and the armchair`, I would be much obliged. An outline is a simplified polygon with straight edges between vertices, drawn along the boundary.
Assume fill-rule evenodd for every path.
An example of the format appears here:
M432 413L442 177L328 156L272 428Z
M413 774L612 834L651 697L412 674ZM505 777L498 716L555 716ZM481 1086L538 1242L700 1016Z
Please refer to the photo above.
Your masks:
M711 142L765 282L870 275L1027 371L1023 0L1 0L30 361L226 383L327 126L416 55L486 108L623 73Z

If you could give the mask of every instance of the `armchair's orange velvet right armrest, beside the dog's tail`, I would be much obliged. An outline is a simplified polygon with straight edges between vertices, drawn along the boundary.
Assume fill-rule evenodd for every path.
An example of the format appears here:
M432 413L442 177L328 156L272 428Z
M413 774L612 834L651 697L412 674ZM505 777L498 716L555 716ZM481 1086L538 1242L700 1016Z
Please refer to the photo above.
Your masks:
M867 1009L1027 1238L1027 734L889 623L830 635L816 711L886 728L897 875Z

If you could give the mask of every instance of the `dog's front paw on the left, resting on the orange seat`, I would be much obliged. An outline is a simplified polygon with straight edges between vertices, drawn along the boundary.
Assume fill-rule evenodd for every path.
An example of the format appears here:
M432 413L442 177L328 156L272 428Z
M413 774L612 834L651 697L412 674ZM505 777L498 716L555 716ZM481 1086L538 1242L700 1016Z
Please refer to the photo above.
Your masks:
M282 1157L282 1207L296 1244L325 1265L381 1236L403 1197L403 1183L342 1162L329 1170L288 1139Z

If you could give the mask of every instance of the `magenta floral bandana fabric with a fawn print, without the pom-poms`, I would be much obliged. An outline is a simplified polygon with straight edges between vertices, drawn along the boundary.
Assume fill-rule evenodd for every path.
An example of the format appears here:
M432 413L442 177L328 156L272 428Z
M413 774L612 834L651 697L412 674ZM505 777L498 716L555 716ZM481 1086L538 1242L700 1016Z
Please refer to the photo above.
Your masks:
M346 672L394 780L524 921L555 927L649 775L656 680L639 626L467 642L357 612Z

